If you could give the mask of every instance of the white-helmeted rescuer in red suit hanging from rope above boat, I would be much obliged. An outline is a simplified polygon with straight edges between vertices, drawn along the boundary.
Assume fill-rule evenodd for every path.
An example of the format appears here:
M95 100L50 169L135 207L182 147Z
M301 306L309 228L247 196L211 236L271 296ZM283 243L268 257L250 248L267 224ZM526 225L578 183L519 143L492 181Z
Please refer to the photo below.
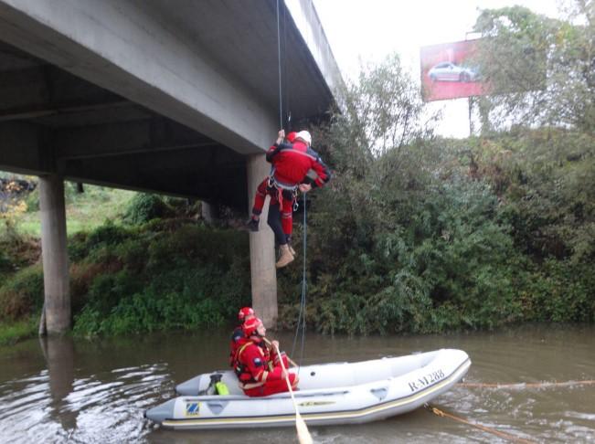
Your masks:
M310 132L290 132L287 136L288 143L283 143L284 137L285 132L281 130L277 141L266 155L267 162L272 164L271 174L265 177L256 189L252 216L247 223L251 231L259 230L264 200L266 196L271 196L267 222L281 251L281 256L275 264L278 269L295 259L295 251L291 246L292 213L298 190L307 193L312 187L324 186L331 178L328 167L310 146ZM316 174L315 179L308 175L310 170Z

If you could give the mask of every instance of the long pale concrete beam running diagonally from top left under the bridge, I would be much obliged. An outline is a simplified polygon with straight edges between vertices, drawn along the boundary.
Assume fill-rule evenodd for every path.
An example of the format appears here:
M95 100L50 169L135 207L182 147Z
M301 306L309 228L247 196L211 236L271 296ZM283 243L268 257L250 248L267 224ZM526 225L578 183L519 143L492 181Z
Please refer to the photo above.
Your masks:
M239 153L261 153L276 110L200 43L133 0L0 0L11 45L143 104Z

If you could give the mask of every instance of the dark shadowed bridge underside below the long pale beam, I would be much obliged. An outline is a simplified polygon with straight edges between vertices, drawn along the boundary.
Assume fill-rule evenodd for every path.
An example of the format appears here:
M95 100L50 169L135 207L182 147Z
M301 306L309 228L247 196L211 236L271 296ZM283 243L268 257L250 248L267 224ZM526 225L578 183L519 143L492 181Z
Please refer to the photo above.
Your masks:
M244 209L245 156L0 43L0 169Z

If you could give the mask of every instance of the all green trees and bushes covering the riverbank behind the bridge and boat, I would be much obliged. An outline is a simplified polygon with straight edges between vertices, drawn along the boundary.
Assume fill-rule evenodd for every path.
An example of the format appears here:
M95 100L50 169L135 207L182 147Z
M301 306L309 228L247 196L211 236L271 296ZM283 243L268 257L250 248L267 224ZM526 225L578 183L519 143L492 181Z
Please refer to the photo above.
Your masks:
M595 21L574 12L583 18L483 11L476 29L492 38L478 63L507 92L478 99L481 132L466 140L432 133L440 116L397 57L346 86L342 112L313 128L335 178L308 195L309 328L595 321ZM523 54L538 56L536 71L495 63ZM543 84L540 69L552 73ZM197 222L197 206L101 187L80 195L71 185L67 201L74 333L204 328L250 303L248 237ZM0 232L0 342L35 333L42 302L35 193L26 213L11 208ZM278 273L288 328L298 262Z

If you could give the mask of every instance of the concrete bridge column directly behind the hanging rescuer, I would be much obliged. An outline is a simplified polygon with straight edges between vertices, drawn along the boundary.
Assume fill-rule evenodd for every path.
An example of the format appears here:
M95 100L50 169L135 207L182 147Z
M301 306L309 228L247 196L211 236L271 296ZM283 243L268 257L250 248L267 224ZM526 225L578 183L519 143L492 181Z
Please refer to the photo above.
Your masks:
M271 165L264 154L251 155L247 161L248 197L251 214L256 187L269 174ZM275 239L267 224L269 199L260 215L260 230L250 232L250 276L252 282L252 308L267 328L277 326L277 270L275 269Z

